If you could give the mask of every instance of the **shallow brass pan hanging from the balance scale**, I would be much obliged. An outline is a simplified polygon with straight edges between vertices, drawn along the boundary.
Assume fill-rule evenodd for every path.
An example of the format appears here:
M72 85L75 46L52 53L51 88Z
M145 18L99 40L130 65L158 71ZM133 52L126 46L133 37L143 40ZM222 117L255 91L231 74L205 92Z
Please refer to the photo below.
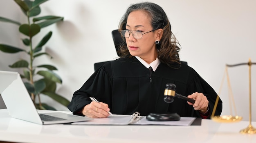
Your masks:
M239 122L243 119L241 116L231 116L231 115L223 115L223 116L213 116L211 117L213 121L220 123L234 123Z

